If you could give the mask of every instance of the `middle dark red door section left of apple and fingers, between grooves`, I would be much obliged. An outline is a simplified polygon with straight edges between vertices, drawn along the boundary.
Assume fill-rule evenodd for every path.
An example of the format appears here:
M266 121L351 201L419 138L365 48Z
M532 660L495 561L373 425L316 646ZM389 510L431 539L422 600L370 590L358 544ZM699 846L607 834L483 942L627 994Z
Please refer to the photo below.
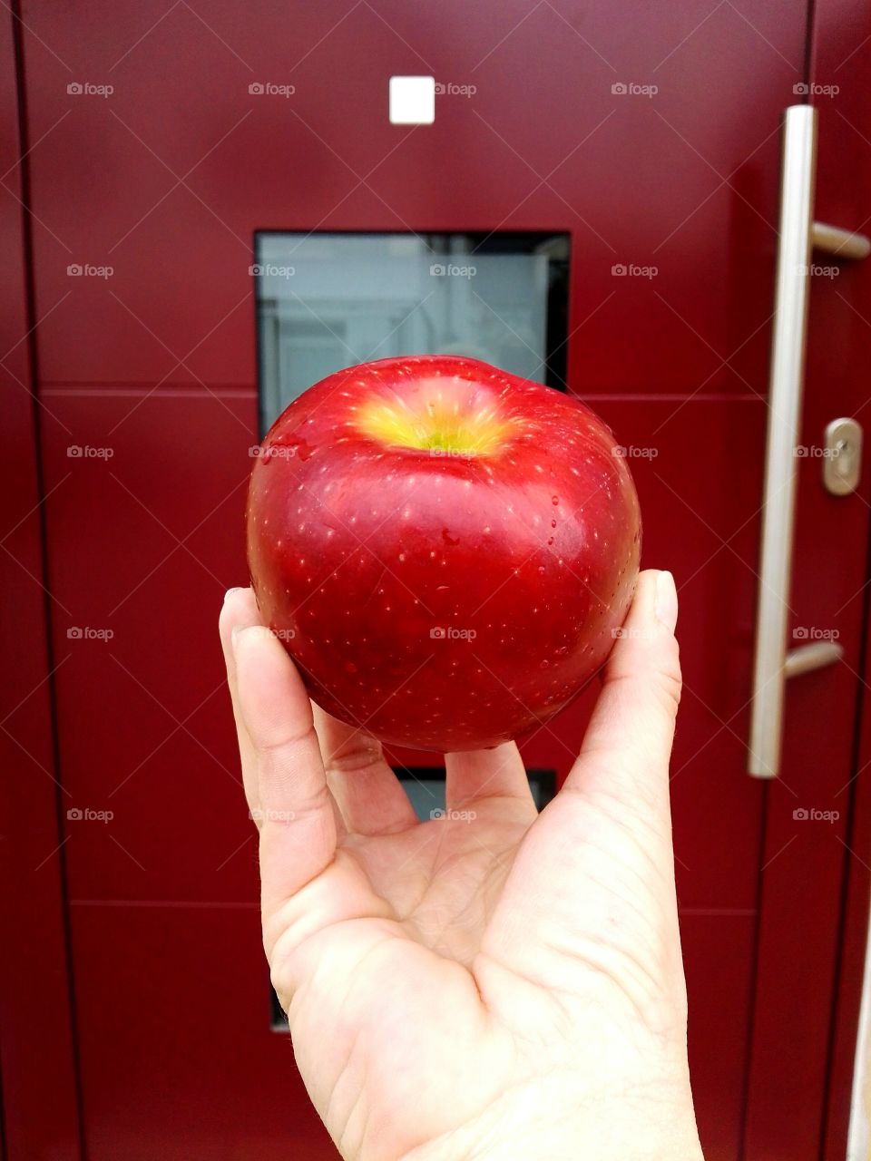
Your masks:
M67 819L71 896L253 900L215 636L225 589L246 576L253 394L46 398L64 425L44 454L67 808L111 813Z

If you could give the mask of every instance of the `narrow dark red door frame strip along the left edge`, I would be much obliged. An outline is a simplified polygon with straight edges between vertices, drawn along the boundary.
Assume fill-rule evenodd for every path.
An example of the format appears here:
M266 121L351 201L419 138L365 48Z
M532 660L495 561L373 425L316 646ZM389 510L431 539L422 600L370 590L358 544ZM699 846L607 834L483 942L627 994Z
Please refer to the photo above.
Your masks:
M0 16L0 1152L79 1156L71 962L64 907L64 792L52 747L52 671L44 591L38 423L27 298L27 218L19 158L15 26ZM49 421L50 417L49 417ZM51 1094L46 1111L45 1094Z

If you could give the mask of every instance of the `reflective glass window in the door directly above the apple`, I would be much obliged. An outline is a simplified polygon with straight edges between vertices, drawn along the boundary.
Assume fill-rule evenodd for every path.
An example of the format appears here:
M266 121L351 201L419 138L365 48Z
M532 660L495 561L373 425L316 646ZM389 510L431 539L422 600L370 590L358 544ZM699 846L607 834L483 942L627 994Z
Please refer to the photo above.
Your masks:
M318 380L462 354L564 389L568 235L258 233L264 428Z

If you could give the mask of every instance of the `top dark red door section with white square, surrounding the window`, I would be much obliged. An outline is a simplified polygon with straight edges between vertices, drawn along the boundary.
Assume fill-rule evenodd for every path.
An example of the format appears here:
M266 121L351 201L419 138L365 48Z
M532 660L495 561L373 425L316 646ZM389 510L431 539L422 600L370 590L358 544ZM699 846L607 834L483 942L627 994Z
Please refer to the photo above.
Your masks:
M102 3L91 37L74 5L26 16L45 382L250 382L257 228L544 226L573 233L575 324L595 312L570 347L577 389L763 389L799 0L751 16L513 0L438 21L399 0L204 20ZM476 92L440 98L431 127L390 125L388 78L422 71ZM84 80L114 92L67 94ZM71 281L86 262L114 268L106 286ZM656 267L643 309L620 265Z

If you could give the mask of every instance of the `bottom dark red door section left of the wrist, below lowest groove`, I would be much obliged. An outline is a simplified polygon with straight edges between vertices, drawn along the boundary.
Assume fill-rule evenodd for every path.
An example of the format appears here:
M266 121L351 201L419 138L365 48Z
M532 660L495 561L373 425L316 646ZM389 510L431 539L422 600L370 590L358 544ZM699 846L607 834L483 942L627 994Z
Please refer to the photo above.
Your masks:
M338 1158L271 1027L255 904L72 914L89 1158Z

